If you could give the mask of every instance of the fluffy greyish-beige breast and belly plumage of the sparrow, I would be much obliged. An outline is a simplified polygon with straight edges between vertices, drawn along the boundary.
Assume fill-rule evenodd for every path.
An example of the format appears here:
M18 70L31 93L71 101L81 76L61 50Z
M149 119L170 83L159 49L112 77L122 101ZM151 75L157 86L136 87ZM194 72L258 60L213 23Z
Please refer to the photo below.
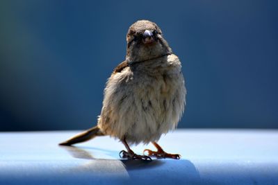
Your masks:
M120 65L106 84L98 125L106 134L129 143L157 141L177 126L185 106L179 58L166 55Z

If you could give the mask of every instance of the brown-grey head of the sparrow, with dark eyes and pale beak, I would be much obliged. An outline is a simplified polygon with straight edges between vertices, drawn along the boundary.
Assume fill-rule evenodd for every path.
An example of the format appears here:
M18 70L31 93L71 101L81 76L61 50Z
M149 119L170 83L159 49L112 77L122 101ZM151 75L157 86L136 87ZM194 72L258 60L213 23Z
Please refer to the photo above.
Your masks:
M161 28L147 20L136 21L126 34L126 61L129 63L152 60L172 53L163 39Z

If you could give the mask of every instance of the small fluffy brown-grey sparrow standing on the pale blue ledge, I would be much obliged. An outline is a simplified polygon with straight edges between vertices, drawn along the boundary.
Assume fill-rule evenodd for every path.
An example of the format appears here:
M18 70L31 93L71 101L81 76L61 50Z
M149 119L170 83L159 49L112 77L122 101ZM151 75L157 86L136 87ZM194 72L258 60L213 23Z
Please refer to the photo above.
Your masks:
M97 125L60 143L72 146L95 136L119 139L126 150L123 159L180 159L158 145L162 134L177 128L186 107L186 85L181 62L152 21L138 20L126 34L126 58L106 82ZM130 146L153 143L138 155ZM145 155L146 154L146 155Z

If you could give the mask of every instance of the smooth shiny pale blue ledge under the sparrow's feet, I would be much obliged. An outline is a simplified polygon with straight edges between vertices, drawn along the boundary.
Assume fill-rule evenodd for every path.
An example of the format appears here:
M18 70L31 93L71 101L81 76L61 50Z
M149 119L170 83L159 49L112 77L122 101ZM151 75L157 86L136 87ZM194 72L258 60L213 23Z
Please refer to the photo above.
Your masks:
M58 146L78 132L1 132L0 184L278 184L277 130L177 130L159 143L182 158L154 161L108 136Z

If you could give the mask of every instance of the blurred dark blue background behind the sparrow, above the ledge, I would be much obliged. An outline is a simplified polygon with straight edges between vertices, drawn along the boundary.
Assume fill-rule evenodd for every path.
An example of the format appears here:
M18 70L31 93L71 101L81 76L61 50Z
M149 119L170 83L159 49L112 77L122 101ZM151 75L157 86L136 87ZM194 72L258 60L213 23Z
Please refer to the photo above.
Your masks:
M83 130L126 53L156 22L183 64L179 127L278 128L278 1L0 1L0 131Z

